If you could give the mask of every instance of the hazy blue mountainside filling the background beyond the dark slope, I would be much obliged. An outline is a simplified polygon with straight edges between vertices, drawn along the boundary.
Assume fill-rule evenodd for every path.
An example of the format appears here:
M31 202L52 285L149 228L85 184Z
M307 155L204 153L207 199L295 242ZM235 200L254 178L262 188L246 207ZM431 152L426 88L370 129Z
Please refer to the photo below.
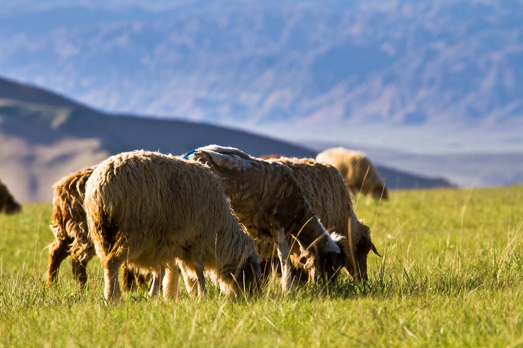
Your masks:
M523 152L520 0L3 1L0 75L294 142Z

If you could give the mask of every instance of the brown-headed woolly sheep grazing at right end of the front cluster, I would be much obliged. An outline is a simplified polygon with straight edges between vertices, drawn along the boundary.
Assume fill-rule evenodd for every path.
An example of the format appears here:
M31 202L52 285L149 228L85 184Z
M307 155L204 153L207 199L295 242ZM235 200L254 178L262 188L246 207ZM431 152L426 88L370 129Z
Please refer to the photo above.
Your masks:
M325 228L347 237L342 248L345 268L357 282L366 282L369 251L381 255L371 241L369 226L356 218L349 191L339 171L333 165L313 159L281 157L267 162L281 163L292 170L312 211Z

